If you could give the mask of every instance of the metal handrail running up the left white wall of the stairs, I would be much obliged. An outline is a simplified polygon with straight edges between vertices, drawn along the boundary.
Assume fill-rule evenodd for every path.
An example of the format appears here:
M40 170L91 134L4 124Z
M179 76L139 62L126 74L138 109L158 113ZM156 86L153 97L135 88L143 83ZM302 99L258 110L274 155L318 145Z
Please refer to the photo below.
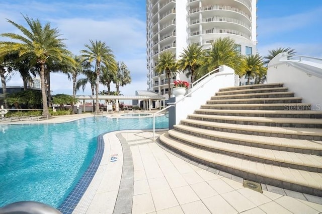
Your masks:
M194 85L196 85L198 82L200 82L201 80L205 79L206 77L211 76L212 74L218 73L218 71L219 71L219 69L220 69L221 67L222 67L222 66L219 66L218 68L216 68L216 69L214 69L214 70L210 71L209 73L207 73L207 74L203 75L202 77L200 77L199 79L197 79L195 82L193 82L193 83L191 84L191 88L192 88ZM215 76L217 76L217 75L214 75L214 77L215 77ZM208 79L206 82L204 82L204 83L209 82L211 79L212 79L212 78L209 78L209 79ZM168 105L166 108L164 108L164 109L162 109L162 110L159 110L159 111L157 111L157 112L153 113L153 141L155 140L155 115L156 115L156 114L159 114L160 112L163 112L163 111L165 111L165 110L167 110L167 109L169 109L169 108L171 108L172 106L176 106L176 104L177 104L178 102L181 102L181 101L182 101L182 100L184 100L187 96L189 96L190 94L192 94L193 92L195 92L196 90L198 90L199 88L201 88L202 86L203 86L203 85L199 85L195 90L191 90L189 93L187 93L186 95L184 95L181 99L177 100L176 102L171 102L171 103L169 103L169 105Z

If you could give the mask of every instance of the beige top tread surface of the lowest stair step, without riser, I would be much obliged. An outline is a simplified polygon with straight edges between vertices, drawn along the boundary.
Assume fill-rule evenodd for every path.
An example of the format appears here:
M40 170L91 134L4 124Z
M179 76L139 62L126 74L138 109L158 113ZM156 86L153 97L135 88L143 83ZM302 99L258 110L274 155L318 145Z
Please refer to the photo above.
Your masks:
M171 139L167 133L161 135L159 139L169 146L201 160L248 172L251 174L256 174L266 178L276 179L283 182L294 183L301 186L307 186L322 190L321 173L274 166L270 164L253 162L250 160L227 156L215 152L205 151Z

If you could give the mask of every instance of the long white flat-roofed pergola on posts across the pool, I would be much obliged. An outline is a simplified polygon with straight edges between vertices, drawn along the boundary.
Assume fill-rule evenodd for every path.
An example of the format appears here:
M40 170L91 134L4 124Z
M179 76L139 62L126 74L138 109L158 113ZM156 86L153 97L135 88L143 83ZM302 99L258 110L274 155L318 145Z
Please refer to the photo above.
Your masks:
M98 95L100 100L115 100L116 102L116 108L115 110L119 110L119 100L148 100L148 109L151 111L151 103L152 100L164 100L166 97L160 96L160 95L133 95L133 96L125 96L125 95ZM85 103L85 100L95 100L95 95L76 95L77 99L83 100L83 103ZM84 104L84 110L85 111L85 104Z

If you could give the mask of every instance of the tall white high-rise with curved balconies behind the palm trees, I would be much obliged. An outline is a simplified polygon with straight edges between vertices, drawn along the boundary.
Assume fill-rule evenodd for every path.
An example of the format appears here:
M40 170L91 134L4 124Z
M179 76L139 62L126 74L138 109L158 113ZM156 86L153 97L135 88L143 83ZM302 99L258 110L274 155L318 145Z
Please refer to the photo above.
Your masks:
M235 41L244 55L256 53L257 0L146 0L147 89L168 96L166 74L155 71L158 55L196 43L208 49L218 37ZM170 79L186 79L178 74Z

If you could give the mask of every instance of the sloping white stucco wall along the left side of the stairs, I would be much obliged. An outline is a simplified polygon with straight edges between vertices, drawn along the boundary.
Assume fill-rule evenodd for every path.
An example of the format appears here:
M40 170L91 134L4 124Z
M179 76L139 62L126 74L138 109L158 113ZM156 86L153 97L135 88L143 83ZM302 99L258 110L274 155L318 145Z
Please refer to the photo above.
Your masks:
M176 124L179 124L182 119L186 119L188 114L192 114L196 109L200 109L200 106L206 104L206 101L210 100L211 96L214 96L220 88L232 87L234 85L234 70L230 67L222 66L218 73L212 74L189 89L188 93L190 91L193 91L193 93L176 104ZM176 101L178 100L180 99Z

